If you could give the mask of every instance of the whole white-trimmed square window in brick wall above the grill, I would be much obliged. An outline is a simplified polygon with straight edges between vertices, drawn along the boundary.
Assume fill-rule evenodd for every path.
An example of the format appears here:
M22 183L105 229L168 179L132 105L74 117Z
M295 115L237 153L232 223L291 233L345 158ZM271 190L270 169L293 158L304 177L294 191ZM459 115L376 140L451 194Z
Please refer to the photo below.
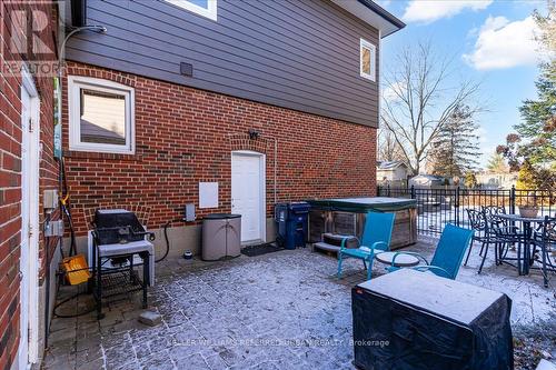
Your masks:
M89 77L68 77L69 149L135 153L135 90Z

